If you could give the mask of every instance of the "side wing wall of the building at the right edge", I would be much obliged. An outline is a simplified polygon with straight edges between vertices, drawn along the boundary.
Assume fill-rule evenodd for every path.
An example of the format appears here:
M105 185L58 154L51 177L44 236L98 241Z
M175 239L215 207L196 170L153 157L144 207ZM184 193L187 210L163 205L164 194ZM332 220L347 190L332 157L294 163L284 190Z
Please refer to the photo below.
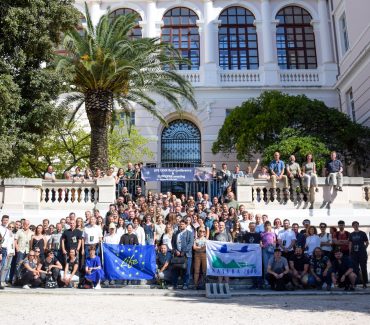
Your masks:
M332 0L340 109L370 127L370 2Z

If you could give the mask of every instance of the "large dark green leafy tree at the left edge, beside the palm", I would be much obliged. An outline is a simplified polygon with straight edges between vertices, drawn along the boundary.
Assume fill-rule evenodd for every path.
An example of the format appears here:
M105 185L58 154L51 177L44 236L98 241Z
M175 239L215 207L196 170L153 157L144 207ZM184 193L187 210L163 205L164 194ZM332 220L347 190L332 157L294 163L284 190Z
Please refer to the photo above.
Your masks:
M55 101L63 76L49 67L61 32L75 26L72 0L0 2L0 175L18 173L23 155L34 150L62 120ZM46 64L47 68L42 68Z

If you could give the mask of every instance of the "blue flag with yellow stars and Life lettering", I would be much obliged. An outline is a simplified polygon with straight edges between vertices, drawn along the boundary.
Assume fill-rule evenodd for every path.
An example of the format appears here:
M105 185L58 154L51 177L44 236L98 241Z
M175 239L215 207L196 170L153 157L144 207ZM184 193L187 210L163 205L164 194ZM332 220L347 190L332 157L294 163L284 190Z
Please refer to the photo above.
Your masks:
M150 280L155 276L153 245L103 244L104 272L107 280Z

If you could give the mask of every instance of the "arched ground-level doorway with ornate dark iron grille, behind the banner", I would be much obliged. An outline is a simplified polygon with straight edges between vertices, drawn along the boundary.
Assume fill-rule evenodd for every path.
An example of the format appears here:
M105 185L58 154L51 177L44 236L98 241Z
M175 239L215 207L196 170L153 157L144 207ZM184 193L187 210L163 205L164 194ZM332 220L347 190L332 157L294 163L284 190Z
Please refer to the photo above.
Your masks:
M202 161L199 128L188 120L168 124L161 136L162 167L197 167ZM161 191L193 194L192 182L161 182Z

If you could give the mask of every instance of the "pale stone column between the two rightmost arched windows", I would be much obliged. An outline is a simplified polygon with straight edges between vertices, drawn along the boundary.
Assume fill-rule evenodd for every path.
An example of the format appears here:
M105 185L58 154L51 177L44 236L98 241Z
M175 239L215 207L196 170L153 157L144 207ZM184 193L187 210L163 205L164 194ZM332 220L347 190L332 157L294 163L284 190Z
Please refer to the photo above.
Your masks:
M263 48L259 48L259 51L263 53L263 62L260 62L260 66L261 70L264 71L264 84L277 85L279 84L279 78L276 47L274 46L277 22L271 19L270 0L262 0L261 12L262 21L255 22L258 38L262 37L263 44Z

